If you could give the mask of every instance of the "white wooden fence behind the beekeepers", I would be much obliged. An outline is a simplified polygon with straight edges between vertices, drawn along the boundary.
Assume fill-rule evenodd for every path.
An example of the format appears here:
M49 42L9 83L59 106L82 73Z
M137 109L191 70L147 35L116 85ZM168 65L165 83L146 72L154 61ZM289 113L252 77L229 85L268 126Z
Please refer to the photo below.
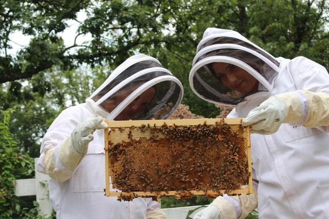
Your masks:
M38 163L38 158L34 158L34 162L36 165L36 163ZM48 175L35 171L35 178L27 180L15 180L13 182L15 185L15 195L36 195L36 201L39 203L39 215L45 217L47 217L47 215L50 216L52 211L52 206L48 196L48 179ZM187 214L190 210L198 207L200 206L163 208L161 210L165 212L167 219L185 219L187 218Z

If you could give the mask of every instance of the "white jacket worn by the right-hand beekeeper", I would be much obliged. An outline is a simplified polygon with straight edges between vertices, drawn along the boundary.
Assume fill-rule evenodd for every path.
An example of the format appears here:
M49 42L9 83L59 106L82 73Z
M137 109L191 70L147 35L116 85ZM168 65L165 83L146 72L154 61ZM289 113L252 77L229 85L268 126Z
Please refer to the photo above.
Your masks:
M296 90L329 94L329 75L324 67L304 57L278 60L280 72L273 80L272 91L249 96L228 117L245 117L270 95ZM309 107L319 110L319 115L329 113L324 108L328 103L310 105L305 96L301 94L300 98L303 111ZM328 131L327 127L282 124L271 135L251 134L260 218L329 218L329 134L323 131ZM241 205L244 208L244 203Z

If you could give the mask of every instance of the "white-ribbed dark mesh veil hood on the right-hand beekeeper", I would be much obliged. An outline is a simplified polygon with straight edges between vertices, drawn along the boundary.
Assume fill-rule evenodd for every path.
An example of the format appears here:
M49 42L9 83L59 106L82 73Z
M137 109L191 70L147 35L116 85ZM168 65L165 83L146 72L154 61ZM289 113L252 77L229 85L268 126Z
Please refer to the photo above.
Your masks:
M190 86L196 95L211 103L235 106L246 97L214 79L212 63L230 63L246 70L260 82L258 92L271 91L271 82L279 72L275 57L232 30L208 28L196 51Z

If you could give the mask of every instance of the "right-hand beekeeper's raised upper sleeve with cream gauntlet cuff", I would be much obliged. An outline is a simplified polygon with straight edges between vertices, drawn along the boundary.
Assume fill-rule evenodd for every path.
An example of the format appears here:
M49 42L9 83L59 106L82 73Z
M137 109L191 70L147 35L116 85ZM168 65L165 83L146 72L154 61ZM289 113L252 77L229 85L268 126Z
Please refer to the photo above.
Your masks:
M318 128L328 132L329 125L329 74L320 64L296 57L287 65L296 91L278 94L285 104L284 123Z

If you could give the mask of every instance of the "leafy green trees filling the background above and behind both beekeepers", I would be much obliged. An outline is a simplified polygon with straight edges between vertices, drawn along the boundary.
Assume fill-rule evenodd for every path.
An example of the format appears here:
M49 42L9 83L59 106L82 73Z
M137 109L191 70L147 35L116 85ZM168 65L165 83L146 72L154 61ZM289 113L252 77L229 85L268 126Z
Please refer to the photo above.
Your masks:
M328 67L328 8L324 0L1 1L0 109L19 106L11 131L26 150L38 148L62 109L83 102L115 67L142 52L180 79L182 104L192 113L216 117L221 109L196 97L188 82L207 27L234 29L273 55L305 55ZM75 37L90 34L92 39L64 45L60 33L78 12L87 18L79 21ZM6 52L14 31L32 37L16 55ZM92 69L77 70L86 65Z

